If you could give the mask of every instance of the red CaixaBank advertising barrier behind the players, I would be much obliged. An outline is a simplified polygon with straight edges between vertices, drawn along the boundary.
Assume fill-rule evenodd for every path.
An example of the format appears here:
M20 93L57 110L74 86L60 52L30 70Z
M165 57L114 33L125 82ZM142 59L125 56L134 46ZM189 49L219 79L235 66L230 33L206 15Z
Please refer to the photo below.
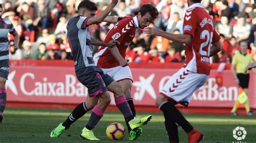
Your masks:
M182 66L182 63L131 63L134 104L142 110L146 106L147 111L158 111L154 99L164 83ZM223 73L224 86L219 88L214 78L217 67L212 65L207 84L194 93L188 109L206 112L203 109L232 108L238 96L238 86L228 65ZM73 61L10 61L8 78L8 106L73 108L85 101L87 95L87 89L77 81ZM249 98L253 109L256 109L255 88L255 76L251 74Z

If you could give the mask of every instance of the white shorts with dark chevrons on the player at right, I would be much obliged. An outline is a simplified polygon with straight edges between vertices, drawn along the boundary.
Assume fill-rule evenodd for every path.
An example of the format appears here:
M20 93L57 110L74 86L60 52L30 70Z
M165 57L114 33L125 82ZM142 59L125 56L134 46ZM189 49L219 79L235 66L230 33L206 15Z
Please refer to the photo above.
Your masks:
M193 73L185 68L181 68L167 81L160 94L175 103L188 106L194 91L199 89L206 82L207 78L206 74Z

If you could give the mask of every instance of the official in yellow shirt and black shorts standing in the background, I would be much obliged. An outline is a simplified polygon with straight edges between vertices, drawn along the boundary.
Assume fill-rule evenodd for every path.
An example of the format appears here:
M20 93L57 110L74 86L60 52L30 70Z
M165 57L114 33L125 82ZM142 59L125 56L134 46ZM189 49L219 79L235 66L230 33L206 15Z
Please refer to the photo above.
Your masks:
M247 49L246 40L240 41L239 45L240 45L240 53L237 53L233 56L231 71L234 76L235 82L237 82L237 84L239 84L239 87L241 87L245 91L245 94L248 95L248 85L250 80L250 74L249 74L249 71L246 71L246 73L244 73L244 71L248 63L253 63L253 58L251 54L246 53L246 49ZM237 116L237 108L239 107L239 104L240 103L238 98L237 101L235 101L234 103L233 109L231 110L231 115ZM247 115L252 116L253 112L250 109L249 99L247 98L243 104L245 105L245 110Z

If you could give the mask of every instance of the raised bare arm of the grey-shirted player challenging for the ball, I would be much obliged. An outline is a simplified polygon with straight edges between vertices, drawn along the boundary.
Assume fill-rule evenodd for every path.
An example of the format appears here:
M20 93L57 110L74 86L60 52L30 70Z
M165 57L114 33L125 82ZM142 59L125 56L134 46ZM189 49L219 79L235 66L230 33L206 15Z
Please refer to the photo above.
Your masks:
M88 19L86 25L92 25L92 24L97 24L103 22L103 20L109 15L109 13L113 10L114 6L116 6L118 3L118 0L112 0L109 5L107 5L107 8L102 11L98 16L96 17L91 17Z

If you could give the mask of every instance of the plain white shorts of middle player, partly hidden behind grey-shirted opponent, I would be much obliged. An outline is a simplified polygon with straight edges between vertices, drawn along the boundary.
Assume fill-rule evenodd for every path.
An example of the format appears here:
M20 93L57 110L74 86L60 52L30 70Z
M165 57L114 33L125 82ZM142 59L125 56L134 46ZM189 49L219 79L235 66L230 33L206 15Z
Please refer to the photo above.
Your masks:
M122 66L117 66L113 68L102 68L104 73L108 74L110 77L113 78L115 81L123 81L123 80L131 80L132 79L132 72L129 68L129 66L122 67Z

